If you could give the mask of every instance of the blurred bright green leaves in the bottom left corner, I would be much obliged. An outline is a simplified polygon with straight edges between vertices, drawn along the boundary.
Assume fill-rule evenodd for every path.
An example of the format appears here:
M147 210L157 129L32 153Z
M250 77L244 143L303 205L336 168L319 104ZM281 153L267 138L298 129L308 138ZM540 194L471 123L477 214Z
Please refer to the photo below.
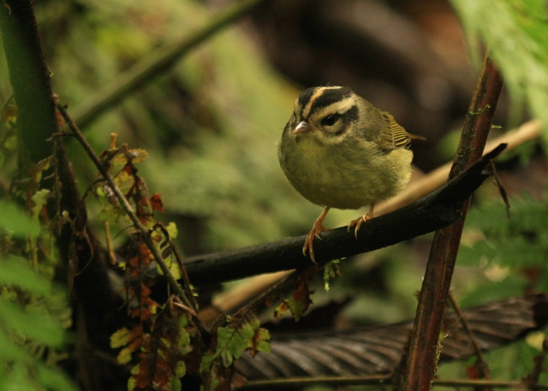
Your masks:
M42 362L62 347L71 311L62 291L21 257L0 260L0 390L75 390Z

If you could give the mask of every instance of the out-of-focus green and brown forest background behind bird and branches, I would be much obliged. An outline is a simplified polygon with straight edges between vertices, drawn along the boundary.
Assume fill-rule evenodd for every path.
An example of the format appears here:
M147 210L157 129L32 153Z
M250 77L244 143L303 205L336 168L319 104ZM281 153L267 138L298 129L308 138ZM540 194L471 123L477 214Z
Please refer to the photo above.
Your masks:
M197 29L229 3L34 1L54 92L70 103L69 112L76 110L116 75ZM177 224L185 255L306 234L321 207L290 186L277 161L277 142L300 91L350 86L392 113L410 133L427 138L412 145L416 175L427 173L452 159L473 92L482 51L467 45L464 35L451 3L442 0L273 0L190 51L83 130L97 152L108 149L111 133L129 147L148 151L140 175L151 194L161 194L165 214L158 218ZM546 46L540 49L548 52ZM532 92L544 99L543 88L539 84ZM495 134L531 115L525 110L531 91L520 96L514 88L510 99L509 90L499 101L494 123L501 129L493 129ZM1 103L10 95L0 55ZM95 168L79 144L68 140L67 146L84 193L97 178ZM463 247L453 278L463 304L547 288L544 152L541 143L530 143L499 162L503 184L521 197L512 202L510 223L493 184L487 181L477 192L477 209L464 234L470 246ZM8 156L0 178L4 190L13 167ZM88 207L100 232L101 223L93 218L101 205L90 198ZM359 213L333 210L325 225L346 225ZM499 231L490 229L494 225ZM121 234L116 243L124 238ZM317 281L315 305L351 297L336 319L340 326L412 317L431 239L427 235L344 260L343 277L329 293ZM523 249L530 251L526 259Z

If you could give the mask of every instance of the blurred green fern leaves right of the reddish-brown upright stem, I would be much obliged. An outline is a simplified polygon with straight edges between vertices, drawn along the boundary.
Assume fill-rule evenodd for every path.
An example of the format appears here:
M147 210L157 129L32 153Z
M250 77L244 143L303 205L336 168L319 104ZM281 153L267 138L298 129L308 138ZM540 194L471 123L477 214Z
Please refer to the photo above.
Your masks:
M527 287L548 292L548 199L523 194L510 205L510 220L500 200L473 207L466 217L464 242L470 243L461 245L457 262L479 266L489 282L469 297L500 299Z

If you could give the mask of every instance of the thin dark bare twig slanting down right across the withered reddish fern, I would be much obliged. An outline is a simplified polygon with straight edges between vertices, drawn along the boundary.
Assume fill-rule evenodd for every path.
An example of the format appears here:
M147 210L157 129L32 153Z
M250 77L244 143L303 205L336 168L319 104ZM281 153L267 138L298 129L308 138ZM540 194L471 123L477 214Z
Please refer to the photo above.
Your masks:
M169 281L169 285L171 288L175 291L175 294L185 303L188 307L192 307L192 304L190 303L190 300L188 297L186 297L186 294L179 286L179 283L177 283L177 280L175 280L175 277L173 277L173 274L171 274L171 271L169 270L166 262L162 259L162 255L160 255L160 252L156 248L154 242L152 241L151 236L149 235L149 232L147 229L140 223L139 218L136 216L134 210L132 209L132 206L129 205L127 202L127 199L125 199L124 195L122 194L121 190L116 186L114 181L112 180L112 177L110 177L108 171L106 170L105 166L103 166L103 163L101 163L101 160L99 160L99 157L95 154L95 151L91 148L90 144L88 143L88 140L84 138L84 135L81 131L79 131L78 127L73 123L71 117L66 112L66 108L63 105L58 105L58 110L63 116L64 121L66 122L66 125L69 126L71 131L73 132L73 136L79 141L80 144L82 144L82 147L84 147L84 150L92 160L92 162L95 164L105 181L107 181L108 186L112 189L114 192L114 195L116 196L116 199L120 203L120 205L123 207L129 218L131 218L135 229L138 231L140 237L147 245L147 248L151 252L151 254L154 257L154 260L158 265L160 265L160 268L162 268L162 272L166 276L167 280ZM196 312L191 313L192 315L192 321L195 323L196 327L199 329L200 333L202 334L204 340L209 340L210 335L209 332L206 330L205 327L203 327L201 320L199 320Z

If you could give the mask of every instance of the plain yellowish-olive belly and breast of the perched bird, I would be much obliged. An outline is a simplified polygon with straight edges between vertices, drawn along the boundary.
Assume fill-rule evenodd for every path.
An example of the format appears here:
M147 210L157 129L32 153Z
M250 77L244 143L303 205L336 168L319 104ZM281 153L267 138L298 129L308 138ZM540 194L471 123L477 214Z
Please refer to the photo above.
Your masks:
M412 152L381 151L373 142L349 147L302 140L280 152L290 183L308 201L338 209L358 209L395 196L411 176Z

